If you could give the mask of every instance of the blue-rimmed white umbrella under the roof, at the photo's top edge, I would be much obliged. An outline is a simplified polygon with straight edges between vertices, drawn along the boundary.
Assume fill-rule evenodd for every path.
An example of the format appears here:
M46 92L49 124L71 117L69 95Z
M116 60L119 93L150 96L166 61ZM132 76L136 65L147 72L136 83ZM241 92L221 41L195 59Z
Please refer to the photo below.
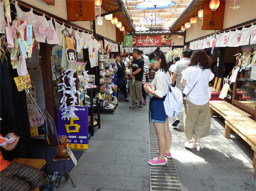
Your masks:
M135 8L138 9L163 9L168 7L173 7L176 2L170 0L146 0L136 5Z

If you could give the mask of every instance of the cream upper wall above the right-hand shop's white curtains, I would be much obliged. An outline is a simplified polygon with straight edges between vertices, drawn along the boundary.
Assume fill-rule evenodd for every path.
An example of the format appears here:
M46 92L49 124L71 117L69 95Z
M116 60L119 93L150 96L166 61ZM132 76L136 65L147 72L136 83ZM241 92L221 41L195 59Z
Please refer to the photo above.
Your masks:
M233 0L226 0L223 29L241 24L243 22L256 18L256 1L255 0L239 0L237 5L242 5L238 9L231 9L233 7ZM191 28L186 29L186 42L213 33L211 30L201 30L202 20L198 17L197 23Z

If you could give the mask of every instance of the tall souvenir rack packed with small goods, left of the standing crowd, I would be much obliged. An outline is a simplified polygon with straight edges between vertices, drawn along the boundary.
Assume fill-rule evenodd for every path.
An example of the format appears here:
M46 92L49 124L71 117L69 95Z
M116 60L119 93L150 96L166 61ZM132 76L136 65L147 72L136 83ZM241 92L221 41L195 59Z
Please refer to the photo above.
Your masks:
M118 106L116 74L117 66L114 59L108 54L99 55L99 100L101 100L101 112L112 113Z

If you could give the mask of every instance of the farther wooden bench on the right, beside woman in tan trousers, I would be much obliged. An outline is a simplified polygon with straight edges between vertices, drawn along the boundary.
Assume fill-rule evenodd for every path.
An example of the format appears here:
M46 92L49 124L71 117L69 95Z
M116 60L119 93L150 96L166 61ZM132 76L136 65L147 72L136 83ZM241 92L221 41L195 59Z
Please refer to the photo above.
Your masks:
M213 113L218 113L222 117L226 116L247 116L251 117L251 114L243 112L243 110L239 109L238 107L233 106L227 101L209 101L210 110L211 110L211 117L213 117Z

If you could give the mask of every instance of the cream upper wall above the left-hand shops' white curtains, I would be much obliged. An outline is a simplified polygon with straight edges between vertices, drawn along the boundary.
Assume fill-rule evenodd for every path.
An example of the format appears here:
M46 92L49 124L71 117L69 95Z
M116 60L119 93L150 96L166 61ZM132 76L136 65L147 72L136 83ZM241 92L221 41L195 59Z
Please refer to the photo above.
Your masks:
M46 2L42 0L23 1L67 20L67 6L65 0L55 0L55 6L47 5ZM104 13L104 10L102 9L101 12ZM95 9L95 14L98 15L98 9ZM71 23L77 24L88 30L93 30L91 28L90 21L72 21ZM105 18L103 18L103 26L98 26L96 22L96 33L100 34L101 36L107 37L108 39L114 41L116 40L115 26L113 26L113 24L111 24L110 21L105 20Z

